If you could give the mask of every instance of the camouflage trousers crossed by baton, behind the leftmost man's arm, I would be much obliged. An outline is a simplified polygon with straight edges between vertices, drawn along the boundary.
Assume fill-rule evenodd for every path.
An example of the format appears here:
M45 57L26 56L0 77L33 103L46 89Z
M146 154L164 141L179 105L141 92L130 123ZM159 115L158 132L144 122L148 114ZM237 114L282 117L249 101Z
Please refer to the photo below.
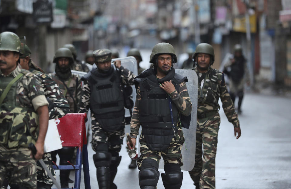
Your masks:
M52 156L51 153L45 153L42 157L43 162L49 168L52 175L55 177L55 170L52 167ZM37 162L36 163L36 174L37 174L37 182L44 182L45 184L52 185L52 179L49 177L49 174L45 171L42 165Z

